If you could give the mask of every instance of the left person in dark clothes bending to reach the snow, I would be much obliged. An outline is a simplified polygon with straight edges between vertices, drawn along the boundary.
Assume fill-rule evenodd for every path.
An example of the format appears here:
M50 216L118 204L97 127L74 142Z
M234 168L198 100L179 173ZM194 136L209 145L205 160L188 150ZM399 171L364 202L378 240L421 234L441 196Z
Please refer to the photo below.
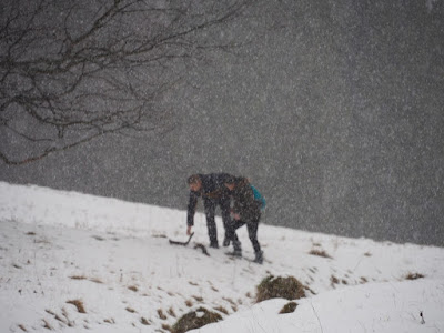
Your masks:
M222 211L222 222L225 229L225 239L223 245L230 245L228 238L228 228L231 225L230 218L230 195L226 189L225 181L232 175L228 173L211 173L211 174L193 174L189 176L188 184L190 186L190 201L188 204L186 216L186 234L191 234L191 229L194 225L194 214L199 198L203 199L203 206L206 216L206 226L210 238L210 248L219 248L218 230L214 221L215 209L219 205Z

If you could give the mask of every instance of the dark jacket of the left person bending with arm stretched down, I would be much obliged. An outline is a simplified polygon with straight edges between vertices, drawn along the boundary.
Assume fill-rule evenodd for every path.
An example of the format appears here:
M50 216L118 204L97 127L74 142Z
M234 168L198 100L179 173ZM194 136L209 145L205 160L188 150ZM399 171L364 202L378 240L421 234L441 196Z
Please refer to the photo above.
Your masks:
M195 208L198 205L198 199L203 200L221 200L229 199L229 190L225 188L225 181L233 178L228 173L210 173L199 174L202 181L202 188L199 192L190 191L190 200L188 204L188 216L186 224L194 225Z

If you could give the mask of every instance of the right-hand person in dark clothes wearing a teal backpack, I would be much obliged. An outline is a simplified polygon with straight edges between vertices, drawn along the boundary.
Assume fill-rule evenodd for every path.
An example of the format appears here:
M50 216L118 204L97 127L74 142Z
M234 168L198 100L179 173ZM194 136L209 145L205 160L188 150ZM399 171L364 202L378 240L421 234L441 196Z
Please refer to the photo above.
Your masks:
M236 229L246 224L249 238L254 249L254 262L262 264L263 252L258 241L258 225L261 220L261 202L254 199L253 189L246 178L228 178L225 188L230 191L233 199L233 209L231 215L233 218L230 224L228 236L233 242L233 255L242 256L241 242L235 234Z

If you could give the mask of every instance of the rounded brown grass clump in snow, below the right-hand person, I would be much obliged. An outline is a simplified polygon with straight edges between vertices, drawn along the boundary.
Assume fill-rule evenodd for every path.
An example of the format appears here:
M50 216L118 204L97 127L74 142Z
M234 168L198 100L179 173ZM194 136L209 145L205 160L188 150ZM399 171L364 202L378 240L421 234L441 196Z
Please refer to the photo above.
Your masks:
M270 299L299 300L305 297L305 286L294 276L264 278L256 286L256 303Z

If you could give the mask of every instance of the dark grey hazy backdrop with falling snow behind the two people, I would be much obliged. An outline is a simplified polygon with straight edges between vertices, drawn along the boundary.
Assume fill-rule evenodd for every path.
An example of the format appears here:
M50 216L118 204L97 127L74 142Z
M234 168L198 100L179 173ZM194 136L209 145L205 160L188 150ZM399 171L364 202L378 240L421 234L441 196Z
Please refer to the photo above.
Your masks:
M443 1L263 0L245 20L241 56L165 100L174 130L0 165L0 180L185 209L189 174L224 171L263 192L265 223L443 246Z

